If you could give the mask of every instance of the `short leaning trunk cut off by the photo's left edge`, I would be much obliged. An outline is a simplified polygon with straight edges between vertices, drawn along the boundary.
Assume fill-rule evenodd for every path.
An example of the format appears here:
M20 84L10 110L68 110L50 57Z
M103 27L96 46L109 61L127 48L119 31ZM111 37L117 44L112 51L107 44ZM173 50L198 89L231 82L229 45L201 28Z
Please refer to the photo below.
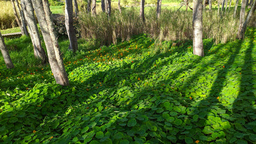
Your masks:
M6 48L6 44L4 43L4 39L2 38L1 32L0 32L0 50L1 50L2 56L4 57L4 62L6 63L6 67L14 68L14 64L10 59L8 49Z

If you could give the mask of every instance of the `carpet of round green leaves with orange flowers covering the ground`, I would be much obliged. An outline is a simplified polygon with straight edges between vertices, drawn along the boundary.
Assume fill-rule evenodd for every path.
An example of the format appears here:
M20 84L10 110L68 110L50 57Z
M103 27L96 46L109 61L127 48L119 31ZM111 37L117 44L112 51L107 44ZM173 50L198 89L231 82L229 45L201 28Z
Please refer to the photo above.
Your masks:
M70 87L47 66L1 66L0 142L255 143L255 38L205 39L205 57L146 35L65 53Z

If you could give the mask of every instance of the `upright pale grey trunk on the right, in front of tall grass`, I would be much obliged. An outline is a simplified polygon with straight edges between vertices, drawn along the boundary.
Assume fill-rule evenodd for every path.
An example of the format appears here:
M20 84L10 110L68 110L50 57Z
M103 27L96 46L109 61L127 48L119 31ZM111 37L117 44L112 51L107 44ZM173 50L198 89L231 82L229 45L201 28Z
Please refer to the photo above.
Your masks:
M193 1L193 54L204 56L202 44L202 0Z

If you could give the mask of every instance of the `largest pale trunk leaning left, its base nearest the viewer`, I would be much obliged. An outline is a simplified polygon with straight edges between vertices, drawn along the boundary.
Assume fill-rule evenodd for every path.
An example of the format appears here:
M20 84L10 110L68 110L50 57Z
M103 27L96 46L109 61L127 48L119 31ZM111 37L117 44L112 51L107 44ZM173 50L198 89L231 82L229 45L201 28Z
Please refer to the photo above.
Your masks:
M54 74L57 84L68 86L68 74L66 74L57 36L54 33L54 25L50 18L50 8L47 0L32 0L38 22L42 31L44 42L46 43L47 54L49 57L50 68Z

